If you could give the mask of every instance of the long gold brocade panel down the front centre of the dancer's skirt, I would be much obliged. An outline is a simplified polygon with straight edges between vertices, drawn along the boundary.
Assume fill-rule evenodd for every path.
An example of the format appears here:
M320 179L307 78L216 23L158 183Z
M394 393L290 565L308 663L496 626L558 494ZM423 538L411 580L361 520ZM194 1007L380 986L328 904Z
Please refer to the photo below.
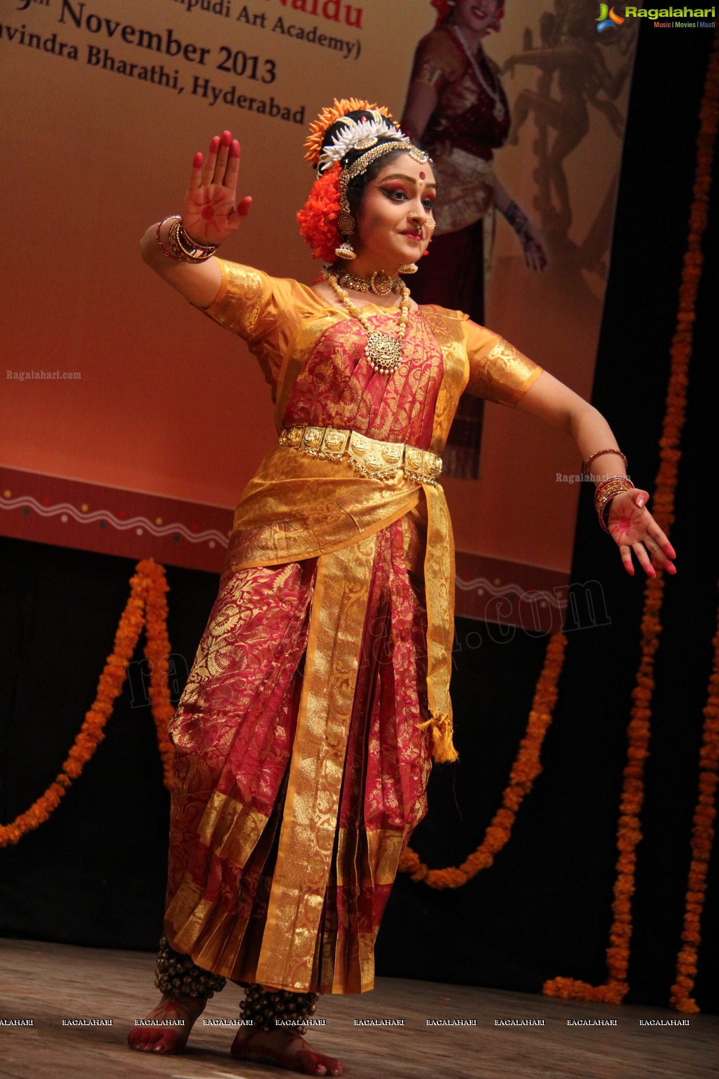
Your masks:
M323 555L257 980L307 992L324 903L375 537Z

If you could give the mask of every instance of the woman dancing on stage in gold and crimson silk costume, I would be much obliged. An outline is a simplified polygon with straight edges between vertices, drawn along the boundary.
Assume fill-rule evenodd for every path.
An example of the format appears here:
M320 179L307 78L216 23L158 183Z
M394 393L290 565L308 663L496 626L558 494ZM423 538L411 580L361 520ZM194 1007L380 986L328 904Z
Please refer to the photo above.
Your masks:
M397 864L454 760L452 533L437 482L462 391L573 437L628 573L674 551L599 413L456 311L399 279L427 249L430 160L385 110L335 101L313 125L302 232L309 288L224 262L241 223L239 145L195 155L182 217L144 260L240 334L276 400L277 447L235 514L220 592L170 723L175 786L163 991L134 1049L179 1052L225 979L246 987L233 1055L341 1075L303 1023L320 993L372 988ZM248 448L251 442L248 442ZM611 478L603 474L611 466ZM608 515L608 519L607 519ZM178 1025L162 1026L175 1022Z

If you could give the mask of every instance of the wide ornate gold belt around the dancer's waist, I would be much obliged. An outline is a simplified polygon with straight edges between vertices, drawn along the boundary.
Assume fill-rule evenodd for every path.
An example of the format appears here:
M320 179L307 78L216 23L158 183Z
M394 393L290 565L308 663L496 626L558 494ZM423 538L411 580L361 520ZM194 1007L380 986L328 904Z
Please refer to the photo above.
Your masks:
M442 473L442 457L437 453L418 450L406 442L383 442L337 427L285 427L279 445L327 461L346 457L370 479L393 479L402 468L406 477L434 484Z

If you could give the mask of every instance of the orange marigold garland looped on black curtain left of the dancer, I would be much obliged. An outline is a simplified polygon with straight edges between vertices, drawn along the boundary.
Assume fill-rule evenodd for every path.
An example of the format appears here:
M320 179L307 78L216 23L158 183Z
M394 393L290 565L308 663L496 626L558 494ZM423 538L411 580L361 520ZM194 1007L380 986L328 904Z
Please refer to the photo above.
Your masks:
M172 767L172 746L167 737L167 722L172 706L165 696L168 672L169 641L167 639L167 581L162 565L142 559L130 577L130 595L115 632L112 655L108 656L105 670L97 684L97 695L68 753L61 771L44 794L12 824L0 825L0 847L8 847L44 823L60 803L60 798L91 760L105 738L105 725L112 714L127 677L127 665L133 658L144 626L147 643L144 655L152 665L150 700L157 728L157 743L163 760L165 786L169 788Z

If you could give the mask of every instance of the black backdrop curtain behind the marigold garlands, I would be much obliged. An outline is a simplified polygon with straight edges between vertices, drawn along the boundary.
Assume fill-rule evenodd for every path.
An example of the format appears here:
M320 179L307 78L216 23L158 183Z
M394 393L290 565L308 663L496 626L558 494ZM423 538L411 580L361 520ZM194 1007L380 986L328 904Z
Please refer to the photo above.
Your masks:
M635 482L651 491L694 173L709 31L642 21L619 190L593 402ZM705 237L696 340L656 657L644 839L638 848L628 999L666 1005L679 947L711 666L719 545L716 200ZM522 492L517 491L521 497ZM128 560L0 541L0 817L52 781L89 707L128 592ZM170 568L169 637L180 683L217 577ZM496 864L457 891L400 875L377 943L379 973L539 992L555 975L599 984L611 921L616 828L630 694L639 657L642 578L631 581L583 491L572 581L598 581L610 624L569 634L544 770ZM479 634L479 636L478 636ZM499 804L526 725L547 638L458 619L453 697L458 766L435 769L412 841L432 866L474 849ZM153 950L161 932L168 795L143 695L141 653L107 737L39 830L0 852L0 932ZM717 857L710 866L695 996L716 1011Z

